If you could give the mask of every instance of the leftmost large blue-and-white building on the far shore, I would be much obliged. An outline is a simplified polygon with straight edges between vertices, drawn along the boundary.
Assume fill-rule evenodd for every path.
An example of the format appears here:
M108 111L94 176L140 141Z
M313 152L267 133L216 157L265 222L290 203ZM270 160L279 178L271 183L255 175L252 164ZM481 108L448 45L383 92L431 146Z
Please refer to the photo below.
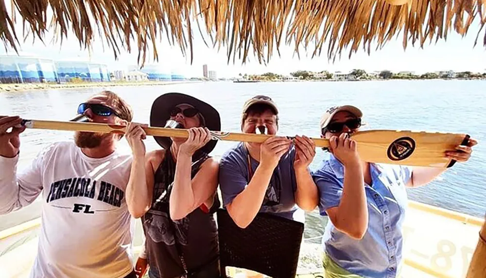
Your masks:
M52 60L28 56L0 56L1 83L59 82Z

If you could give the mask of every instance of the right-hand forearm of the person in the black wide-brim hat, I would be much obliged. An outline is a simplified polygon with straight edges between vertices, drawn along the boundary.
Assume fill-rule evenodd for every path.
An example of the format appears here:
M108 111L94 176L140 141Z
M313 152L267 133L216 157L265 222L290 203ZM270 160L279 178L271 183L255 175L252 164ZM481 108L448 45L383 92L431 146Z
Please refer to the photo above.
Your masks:
M186 217L194 205L194 193L191 184L191 155L179 151L175 165L174 186L169 205L173 220Z

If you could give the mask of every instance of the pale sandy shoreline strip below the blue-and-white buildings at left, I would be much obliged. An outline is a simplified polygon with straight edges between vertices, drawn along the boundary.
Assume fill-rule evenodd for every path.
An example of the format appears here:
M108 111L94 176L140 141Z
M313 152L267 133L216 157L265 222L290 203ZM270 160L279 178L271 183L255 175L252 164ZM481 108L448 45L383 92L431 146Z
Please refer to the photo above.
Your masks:
M114 86L159 86L183 83L197 83L202 81L146 81L146 82L81 82L81 83L0 83L0 93L22 92L33 90L53 90L66 88L96 88Z

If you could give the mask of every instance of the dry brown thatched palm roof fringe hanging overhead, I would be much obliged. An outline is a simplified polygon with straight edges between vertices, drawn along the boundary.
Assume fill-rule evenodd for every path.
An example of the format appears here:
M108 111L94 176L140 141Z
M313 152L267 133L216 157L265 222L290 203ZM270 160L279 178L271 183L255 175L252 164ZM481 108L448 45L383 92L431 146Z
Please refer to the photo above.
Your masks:
M428 39L445 39L452 29L465 35L475 18L480 31L486 22L483 0L11 1L12 12L0 0L0 37L16 50L13 18L20 15L36 37L55 30L62 39L73 32L81 46L89 47L98 30L115 58L122 48L136 48L142 63L150 51L157 57L156 42L163 36L186 55L188 49L192 54L190 34L205 32L214 46L226 46L228 63L236 54L244 62L251 48L262 63L282 43L296 49L313 45L313 56L327 45L329 59L335 59L349 46L349 55L360 48L369 53L372 43L382 47L400 31L406 48L409 42L423 46Z

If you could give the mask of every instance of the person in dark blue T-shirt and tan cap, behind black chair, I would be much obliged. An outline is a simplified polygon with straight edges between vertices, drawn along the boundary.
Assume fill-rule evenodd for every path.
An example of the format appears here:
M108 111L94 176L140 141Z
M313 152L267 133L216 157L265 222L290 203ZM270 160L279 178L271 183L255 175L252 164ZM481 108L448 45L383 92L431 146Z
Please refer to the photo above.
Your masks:
M244 133L277 134L278 108L268 96L246 100L241 119ZM308 169L314 155L315 145L305 136L272 136L227 150L220 160L219 182L224 207L235 223L245 228L259 212L288 219L300 216L303 221L299 207L312 211L318 202Z

